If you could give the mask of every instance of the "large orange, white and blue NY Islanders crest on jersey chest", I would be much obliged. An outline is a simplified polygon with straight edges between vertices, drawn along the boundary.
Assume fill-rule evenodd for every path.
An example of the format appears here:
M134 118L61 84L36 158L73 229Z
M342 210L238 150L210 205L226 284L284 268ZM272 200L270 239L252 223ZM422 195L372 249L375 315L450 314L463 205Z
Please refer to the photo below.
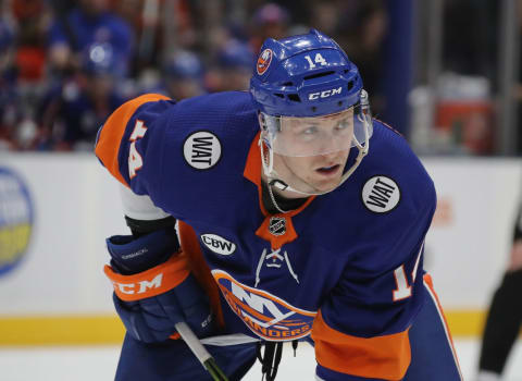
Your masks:
M223 270L212 270L212 275L232 310L258 336L287 341L310 334L316 311L294 307L265 291L249 287Z

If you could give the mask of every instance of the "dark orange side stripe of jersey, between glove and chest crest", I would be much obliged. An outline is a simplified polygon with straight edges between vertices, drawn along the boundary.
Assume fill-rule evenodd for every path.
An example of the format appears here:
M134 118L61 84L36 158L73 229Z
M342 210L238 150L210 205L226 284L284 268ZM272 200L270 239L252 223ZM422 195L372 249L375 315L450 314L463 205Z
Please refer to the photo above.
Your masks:
M221 310L220 291L210 272L210 268L204 261L203 254L199 247L198 236L194 229L183 221L178 220L179 241L182 244L182 255L186 256L188 266L198 283L210 297L210 306L214 312L220 327L225 327L223 311Z

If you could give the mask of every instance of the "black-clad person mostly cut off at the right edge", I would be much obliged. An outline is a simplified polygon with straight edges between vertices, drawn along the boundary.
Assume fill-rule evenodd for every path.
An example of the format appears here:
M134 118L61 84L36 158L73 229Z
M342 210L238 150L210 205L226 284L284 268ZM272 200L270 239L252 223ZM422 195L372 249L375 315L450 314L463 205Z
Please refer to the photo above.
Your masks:
M522 325L522 205L514 223L508 269L496 290L482 337L476 381L500 381Z

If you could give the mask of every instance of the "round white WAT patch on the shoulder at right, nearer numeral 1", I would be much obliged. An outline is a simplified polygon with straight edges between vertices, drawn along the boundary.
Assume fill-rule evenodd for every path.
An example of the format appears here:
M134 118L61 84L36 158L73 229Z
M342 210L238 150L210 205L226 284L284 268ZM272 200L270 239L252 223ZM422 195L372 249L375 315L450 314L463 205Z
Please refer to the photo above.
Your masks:
M375 213L388 212L395 209L399 201L400 188L389 177L373 176L362 187L362 204Z

